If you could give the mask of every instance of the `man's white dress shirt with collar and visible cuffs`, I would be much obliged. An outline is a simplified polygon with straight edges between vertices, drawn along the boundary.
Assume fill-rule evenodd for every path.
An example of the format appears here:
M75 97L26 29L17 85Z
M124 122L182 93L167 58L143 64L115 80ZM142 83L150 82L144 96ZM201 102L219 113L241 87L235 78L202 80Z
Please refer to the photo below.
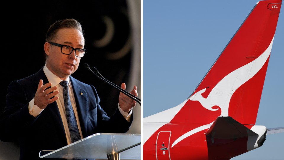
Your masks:
M67 144L69 145L69 144L71 144L71 137L70 137L70 132L69 132L69 128L68 128L68 123L67 123L67 118L66 118L66 113L65 113L65 107L64 107L63 87L59 84L62 81L62 79L60 79L58 76L56 76L51 71L49 71L49 69L46 67L46 65L44 65L44 67L43 67L43 72L45 73L48 81L51 82L51 87L57 86L57 89L54 90L54 92L59 91L59 94L56 95L56 96L58 96L56 103L57 103L57 106L58 106L58 109L59 109L59 112L60 112L60 116L61 116L61 119L62 119L62 122L63 122L64 130L65 130L65 134L66 134L66 138L67 138ZM69 76L67 77L66 81L68 82L68 91L69 91L70 101L71 101L73 111L75 113L75 117L76 117L76 120L77 120L77 125L78 125L78 129L79 129L79 132L80 132L80 136L83 139L80 121L79 121L78 112L77 112L77 107L76 107L76 102L75 102L75 97L74 97L74 93L73 93L73 89L72 89L72 85L71 85ZM44 109L40 109L40 108L38 108L37 105L34 105L34 104L35 104L34 99L32 99L29 103L29 113L32 116L37 117ZM131 109L130 113L126 113L126 112L122 111L122 109L120 108L119 105L118 105L118 109L119 109L120 113L124 116L124 118L128 122L130 122L130 116L132 114L132 109Z

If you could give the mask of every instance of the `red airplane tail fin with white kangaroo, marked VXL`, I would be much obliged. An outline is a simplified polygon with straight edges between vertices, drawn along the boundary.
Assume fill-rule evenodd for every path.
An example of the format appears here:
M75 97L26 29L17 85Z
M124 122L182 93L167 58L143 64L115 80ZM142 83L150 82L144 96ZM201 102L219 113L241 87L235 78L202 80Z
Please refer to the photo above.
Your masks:
M255 124L281 0L259 1L171 122Z

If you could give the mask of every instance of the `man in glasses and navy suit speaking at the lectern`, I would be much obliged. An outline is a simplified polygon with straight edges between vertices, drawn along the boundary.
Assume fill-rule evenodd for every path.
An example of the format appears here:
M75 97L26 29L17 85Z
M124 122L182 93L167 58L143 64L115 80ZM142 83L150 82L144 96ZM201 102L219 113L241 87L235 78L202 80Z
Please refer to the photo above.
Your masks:
M56 150L98 132L125 133L136 102L120 93L109 118L96 89L70 75L86 50L80 23L61 20L50 26L44 50L46 65L38 73L13 81L0 116L0 139L19 140L20 159L40 159L41 150ZM125 84L121 87L125 89ZM137 88L131 94L137 96Z

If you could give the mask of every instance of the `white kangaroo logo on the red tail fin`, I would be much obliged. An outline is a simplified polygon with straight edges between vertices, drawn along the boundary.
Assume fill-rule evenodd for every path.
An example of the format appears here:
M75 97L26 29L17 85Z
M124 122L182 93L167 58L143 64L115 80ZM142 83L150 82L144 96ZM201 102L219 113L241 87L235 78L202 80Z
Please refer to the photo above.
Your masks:
M196 92L189 99L199 101L204 108L210 111L217 111L218 109L212 109L214 105L217 105L221 108L221 116L229 116L229 103L233 93L246 81L251 79L251 77L253 77L262 68L270 55L273 39L268 48L262 53L262 55L256 58L256 60L242 66L241 68L236 69L235 71L225 76L212 89L207 98L204 98L201 95L201 93L204 93L206 90L206 88L204 88L199 92Z

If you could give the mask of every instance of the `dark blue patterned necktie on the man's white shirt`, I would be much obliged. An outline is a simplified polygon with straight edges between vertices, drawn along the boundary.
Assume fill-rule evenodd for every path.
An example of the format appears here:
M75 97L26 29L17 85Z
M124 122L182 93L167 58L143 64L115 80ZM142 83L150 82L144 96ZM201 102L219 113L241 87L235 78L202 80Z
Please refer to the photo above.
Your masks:
M61 81L59 84L63 87L63 98L64 98L64 106L65 106L65 112L66 112L66 119L67 119L68 128L70 132L71 143L74 143L78 140L81 140L81 136L80 136L80 132L78 129L75 113L71 105L71 100L70 100L69 91L68 91L68 82ZM82 157L77 152L75 153L74 158L82 158Z

